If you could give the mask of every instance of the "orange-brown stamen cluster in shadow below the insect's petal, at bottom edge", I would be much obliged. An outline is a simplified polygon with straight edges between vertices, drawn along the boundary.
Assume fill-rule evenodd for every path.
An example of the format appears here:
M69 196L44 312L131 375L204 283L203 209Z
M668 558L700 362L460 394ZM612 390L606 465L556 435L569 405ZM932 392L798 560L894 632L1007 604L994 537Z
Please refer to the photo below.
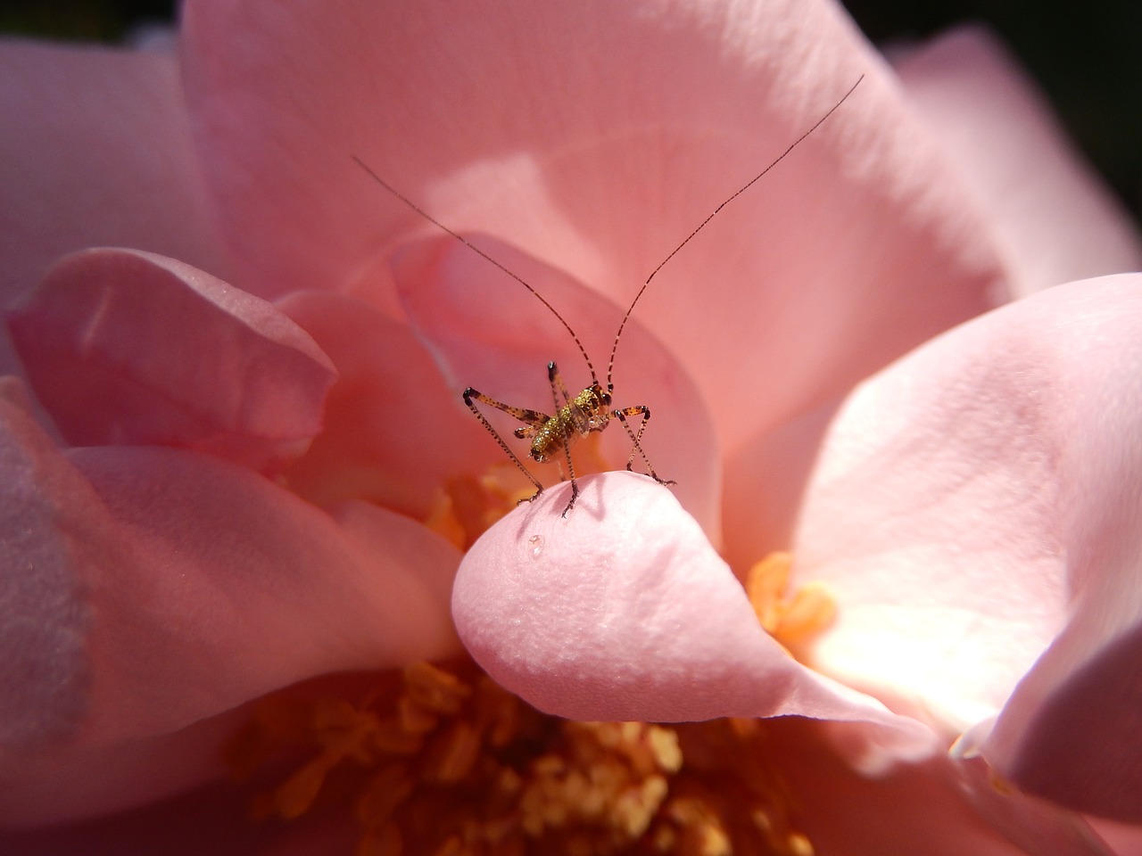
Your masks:
M418 663L357 704L265 700L230 758L246 772L295 758L257 814L347 806L355 856L811 856L765 727L576 722L471 662Z

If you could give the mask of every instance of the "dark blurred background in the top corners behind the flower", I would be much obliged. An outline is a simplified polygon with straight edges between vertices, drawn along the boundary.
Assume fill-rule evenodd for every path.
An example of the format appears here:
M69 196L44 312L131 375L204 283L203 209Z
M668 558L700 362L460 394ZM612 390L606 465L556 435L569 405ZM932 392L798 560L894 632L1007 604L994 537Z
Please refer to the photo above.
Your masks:
M250 0L265 2L266 0ZM0 0L0 31L116 42L169 22L172 0ZM986 22L1046 90L1072 138L1142 219L1142 2L846 0L877 43Z

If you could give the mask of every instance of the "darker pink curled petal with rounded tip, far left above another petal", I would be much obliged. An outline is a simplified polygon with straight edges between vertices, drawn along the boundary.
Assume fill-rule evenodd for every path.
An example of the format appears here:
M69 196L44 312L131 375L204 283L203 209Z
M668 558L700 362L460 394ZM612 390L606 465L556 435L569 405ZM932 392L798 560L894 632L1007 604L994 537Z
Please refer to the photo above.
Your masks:
M268 469L321 430L336 372L268 304L174 259L89 250L9 317L73 445L160 444Z

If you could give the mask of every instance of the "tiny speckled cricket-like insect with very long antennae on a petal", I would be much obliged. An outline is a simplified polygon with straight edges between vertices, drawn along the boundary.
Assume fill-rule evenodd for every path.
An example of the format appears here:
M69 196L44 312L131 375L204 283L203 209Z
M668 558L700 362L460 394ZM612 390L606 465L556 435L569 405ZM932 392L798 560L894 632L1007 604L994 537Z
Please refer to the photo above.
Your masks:
M465 247L471 249L473 252L480 255L489 263L498 267L505 274L510 276L513 280L523 285L528 291L530 291L536 299L539 300L547 309L560 321L561 324L571 334L574 340L576 346L579 348L579 353L582 354L584 361L587 363L587 369L590 372L590 386L574 395L573 397L568 391L566 383L563 382L563 377L560 374L558 366L554 362L547 364L547 380L552 387L552 403L554 405L554 412L552 414L542 413L537 410L529 410L526 407L516 407L510 404L505 404L499 402L491 396L484 395L483 393L468 387L464 390L464 403L468 409L475 414L476 419L488 429L488 433L492 435L496 442L499 444L500 449L507 454L508 458L518 467L520 471L523 473L528 479L536 486L536 493L528 500L533 501L544 491L542 483L536 478L536 476L529 470L520 457L512 450L512 447L504 441L499 431L488 421L488 417L484 415L483 411L480 410L477 402L484 404L494 410L507 413L514 419L518 420L523 425L516 428L513 434L520 439L525 439L530 442L528 449L528 457L537 463L560 463L558 458L566 461L568 466L568 478L571 482L571 499L568 501L566 508L563 509L563 517L570 514L571 509L574 508L576 500L579 498L579 484L574 477L574 465L571 461L571 446L573 446L579 439L586 437L593 431L602 431L610 425L611 420L618 420L619 423L626 429L627 435L630 437L630 454L627 457L627 469L634 468L635 457L642 459L643 465L646 468L646 475L653 478L661 485L675 484L670 479L660 477L654 468L651 466L650 459L646 457L646 452L642 447L643 431L646 430L646 425L650 422L650 407L645 404L633 404L626 407L612 407L613 395L614 395L614 355L619 348L619 340L622 338L622 331L626 329L627 322L630 320L630 314L634 312L635 305L642 298L646 288L650 285L654 275L661 270L667 263L673 259L683 247L685 247L690 241L701 232L706 225L713 220L723 208L725 208L730 202L735 200L742 193L748 191L755 183L761 180L771 169L777 167L786 156L793 152L801 143L809 137L813 131L821 127L825 121L833 115L833 113L847 100L849 96L853 94L860 82L864 79L862 74L858 78L856 82L852 84L847 92L845 92L836 104L834 104L828 112L825 113L813 126L802 134L797 139L795 139L788 148L786 148L781 154L779 154L773 161L769 163L761 172L754 176L749 181L742 185L732 195L726 197L717 208L715 208L694 229L682 240L682 242L675 247L669 255L664 258L658 267L651 270L650 276L643 281L642 286L635 294L634 300L627 306L626 313L622 315L622 321L619 322L619 329L614 333L614 341L611 344L611 356L606 365L606 383L605 386L600 382L598 375L595 372L594 363L592 363L590 357L587 355L587 349L582 346L579 340L578 334L566 322L566 320L560 315L558 310L547 301L547 299L540 294L530 283L528 283L523 277L518 276L514 272L509 270L505 265L492 258L490 255L481 250L478 247L471 243L466 237L451 228L442 224L440 220L434 218L423 208L417 205L412 200L402 194L385 179L378 176L372 169L370 169L360 158L353 156L353 160L370 176L372 176L376 181L388 191L391 194L396 196L401 202L411 208L423 218L432 223L434 226L440 228L442 232L451 235L457 241L463 243ZM632 426L628 420L638 420L637 428ZM563 481L563 468L560 466L560 481Z

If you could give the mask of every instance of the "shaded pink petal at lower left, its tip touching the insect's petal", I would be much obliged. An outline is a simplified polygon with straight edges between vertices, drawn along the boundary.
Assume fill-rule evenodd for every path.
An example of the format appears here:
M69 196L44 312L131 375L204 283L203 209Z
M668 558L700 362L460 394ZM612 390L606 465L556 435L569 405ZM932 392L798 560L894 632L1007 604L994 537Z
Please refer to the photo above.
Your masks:
M124 620L121 629L103 627L105 668L130 670L123 678L139 689L177 672L186 693L179 704L136 713L131 729L151 718L155 727L193 720L207 687L210 704L223 694L234 703L301 677L452 651L443 607L458 554L412 520L365 503L329 517L266 479L193 453L91 449L71 458L138 557L135 566L98 568L103 612ZM161 485L179 490L148 495ZM160 558L168 570L151 591L132 590L129 580L153 573ZM129 627L140 619L147 627ZM190 647L190 662L184 651L177 669L152 663L147 680L128 667L140 633L154 637L152 651ZM114 711L107 719L107 728L127 727L113 724Z

